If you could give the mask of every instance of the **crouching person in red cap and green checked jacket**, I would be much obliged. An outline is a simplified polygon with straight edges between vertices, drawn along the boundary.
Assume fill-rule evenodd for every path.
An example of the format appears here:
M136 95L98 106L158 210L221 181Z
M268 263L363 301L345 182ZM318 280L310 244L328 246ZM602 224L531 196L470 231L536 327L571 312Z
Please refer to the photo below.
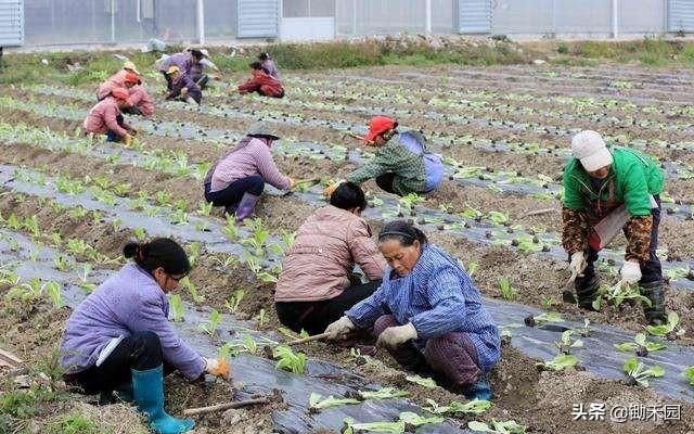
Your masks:
M403 196L409 193L428 193L444 179L441 157L426 151L426 140L417 131L398 133L398 123L387 116L371 119L363 143L375 146L370 162L347 176L347 181L360 184L375 178L376 184ZM324 194L331 195L337 184L329 186Z

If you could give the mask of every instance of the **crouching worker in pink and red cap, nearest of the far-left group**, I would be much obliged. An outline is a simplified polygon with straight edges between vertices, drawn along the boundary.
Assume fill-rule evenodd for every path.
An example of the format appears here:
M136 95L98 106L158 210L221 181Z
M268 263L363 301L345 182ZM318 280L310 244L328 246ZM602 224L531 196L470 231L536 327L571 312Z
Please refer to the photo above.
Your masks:
M138 132L130 124L126 123L121 108L128 104L128 90L115 88L111 94L94 105L87 115L82 129L85 133L106 135L110 142L132 143L132 136Z

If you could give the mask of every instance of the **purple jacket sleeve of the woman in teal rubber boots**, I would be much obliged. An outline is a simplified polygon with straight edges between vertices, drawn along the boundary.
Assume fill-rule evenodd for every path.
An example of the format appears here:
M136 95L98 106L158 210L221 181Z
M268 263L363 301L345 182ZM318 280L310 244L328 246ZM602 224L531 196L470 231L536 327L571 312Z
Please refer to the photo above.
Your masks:
M128 329L152 331L159 336L164 360L187 379L195 380L205 370L205 360L171 329L160 297L140 297L140 308L128 318Z

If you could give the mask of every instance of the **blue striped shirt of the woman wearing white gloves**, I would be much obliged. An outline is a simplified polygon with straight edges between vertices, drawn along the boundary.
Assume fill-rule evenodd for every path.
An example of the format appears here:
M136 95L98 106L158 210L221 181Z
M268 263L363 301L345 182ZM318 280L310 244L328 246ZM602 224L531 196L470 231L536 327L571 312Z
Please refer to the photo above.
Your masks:
M499 330L479 292L458 261L433 244L424 245L408 276L400 278L387 267L381 288L346 312L361 329L386 314L393 314L401 324L412 322L419 336L414 344L420 349L429 337L464 332L475 345L485 372L499 360Z

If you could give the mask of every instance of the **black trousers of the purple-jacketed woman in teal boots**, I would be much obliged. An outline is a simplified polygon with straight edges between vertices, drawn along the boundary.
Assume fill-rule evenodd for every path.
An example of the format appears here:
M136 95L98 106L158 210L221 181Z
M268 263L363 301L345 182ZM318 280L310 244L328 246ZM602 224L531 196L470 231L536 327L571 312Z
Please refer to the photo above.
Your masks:
M162 365L162 344L154 332L136 332L124 339L101 363L72 374L65 374L65 383L80 393L93 395L112 392L121 384L130 383L131 373L146 371ZM170 367L165 367L170 372Z

